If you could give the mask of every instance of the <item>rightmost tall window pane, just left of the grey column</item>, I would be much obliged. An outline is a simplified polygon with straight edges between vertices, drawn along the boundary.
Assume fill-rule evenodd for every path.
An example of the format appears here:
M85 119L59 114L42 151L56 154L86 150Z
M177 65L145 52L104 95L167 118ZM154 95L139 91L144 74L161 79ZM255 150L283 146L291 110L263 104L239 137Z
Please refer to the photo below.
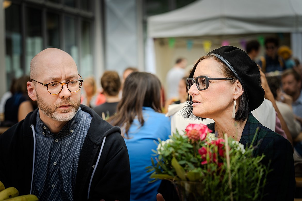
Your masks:
M82 77L93 75L93 60L91 50L91 23L81 21L81 65L80 74Z

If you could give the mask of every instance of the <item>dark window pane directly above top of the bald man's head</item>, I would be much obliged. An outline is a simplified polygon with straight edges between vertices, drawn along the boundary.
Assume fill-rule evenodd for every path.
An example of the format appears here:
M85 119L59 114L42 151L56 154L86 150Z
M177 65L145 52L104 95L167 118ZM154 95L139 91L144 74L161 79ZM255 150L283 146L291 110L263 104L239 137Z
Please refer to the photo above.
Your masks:
M47 13L47 48L60 48L59 15Z

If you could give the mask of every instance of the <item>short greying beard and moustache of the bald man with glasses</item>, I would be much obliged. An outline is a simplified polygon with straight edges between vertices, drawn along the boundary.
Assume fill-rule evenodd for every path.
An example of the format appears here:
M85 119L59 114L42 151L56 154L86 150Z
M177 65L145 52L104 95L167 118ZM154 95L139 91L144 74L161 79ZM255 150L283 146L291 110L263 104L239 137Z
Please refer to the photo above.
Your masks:
M50 104L48 105L42 99L40 99L39 95L37 94L37 104L40 111L43 112L44 115L47 117L56 120L56 121L70 121L77 113L81 99L78 102L71 101L70 98L62 99L60 103ZM63 110L63 112L56 111L61 105L71 105L70 108Z

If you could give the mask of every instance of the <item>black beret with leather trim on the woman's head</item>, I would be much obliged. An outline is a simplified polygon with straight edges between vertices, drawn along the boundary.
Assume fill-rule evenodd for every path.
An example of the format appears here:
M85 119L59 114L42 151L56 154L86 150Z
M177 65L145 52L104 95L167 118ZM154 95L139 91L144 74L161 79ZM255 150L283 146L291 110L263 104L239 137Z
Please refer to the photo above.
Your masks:
M246 52L233 46L222 46L207 55L216 56L230 68L248 96L251 111L262 104L264 90L260 83L260 71L255 61L249 58Z

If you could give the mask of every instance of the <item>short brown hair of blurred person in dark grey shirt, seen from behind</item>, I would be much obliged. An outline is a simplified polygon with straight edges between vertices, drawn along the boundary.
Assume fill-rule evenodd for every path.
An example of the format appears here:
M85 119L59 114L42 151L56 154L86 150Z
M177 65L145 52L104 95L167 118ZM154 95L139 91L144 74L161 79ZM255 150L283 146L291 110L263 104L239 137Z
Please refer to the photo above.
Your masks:
M115 71L105 71L101 77L101 85L108 96L117 96L120 92L120 76Z

